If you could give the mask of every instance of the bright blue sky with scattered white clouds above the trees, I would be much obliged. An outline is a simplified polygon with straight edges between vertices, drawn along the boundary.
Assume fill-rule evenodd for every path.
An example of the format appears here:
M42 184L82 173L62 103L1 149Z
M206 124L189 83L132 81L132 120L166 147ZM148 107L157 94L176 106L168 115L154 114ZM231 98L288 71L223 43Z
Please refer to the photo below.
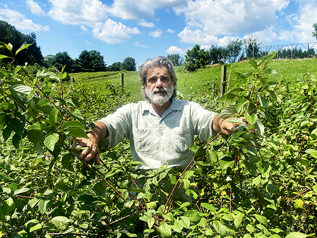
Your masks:
M317 0L2 0L0 20L35 32L43 56L97 50L107 65L225 47L255 37L262 46L316 42ZM315 45L317 48L317 45Z

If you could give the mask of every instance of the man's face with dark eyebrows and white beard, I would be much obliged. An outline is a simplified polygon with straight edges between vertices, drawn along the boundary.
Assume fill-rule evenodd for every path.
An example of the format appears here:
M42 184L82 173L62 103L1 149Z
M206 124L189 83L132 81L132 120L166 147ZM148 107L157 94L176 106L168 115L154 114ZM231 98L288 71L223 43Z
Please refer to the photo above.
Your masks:
M147 70L145 93L152 103L163 106L174 93L172 78L166 67Z

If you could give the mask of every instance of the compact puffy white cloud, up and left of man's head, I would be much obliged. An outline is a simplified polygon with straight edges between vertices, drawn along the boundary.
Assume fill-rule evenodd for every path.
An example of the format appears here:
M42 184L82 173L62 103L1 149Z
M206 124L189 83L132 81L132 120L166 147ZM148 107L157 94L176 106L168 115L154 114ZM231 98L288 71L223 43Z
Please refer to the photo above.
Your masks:
M130 28L122 23L108 19L105 23L96 23L93 29L93 36L109 44L118 44L130 39L129 34L139 34L137 28Z

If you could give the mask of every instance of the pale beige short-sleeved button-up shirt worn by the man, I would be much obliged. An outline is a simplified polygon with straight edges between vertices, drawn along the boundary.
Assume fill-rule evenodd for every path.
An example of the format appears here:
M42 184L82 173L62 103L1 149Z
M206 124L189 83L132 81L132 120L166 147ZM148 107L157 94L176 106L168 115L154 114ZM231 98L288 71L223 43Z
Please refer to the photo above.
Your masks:
M189 146L194 135L207 141L215 115L197 103L173 99L162 117L149 101L140 101L127 104L100 121L107 126L109 148L125 137L130 139L133 161L142 162L139 169L168 165L182 170L193 157Z

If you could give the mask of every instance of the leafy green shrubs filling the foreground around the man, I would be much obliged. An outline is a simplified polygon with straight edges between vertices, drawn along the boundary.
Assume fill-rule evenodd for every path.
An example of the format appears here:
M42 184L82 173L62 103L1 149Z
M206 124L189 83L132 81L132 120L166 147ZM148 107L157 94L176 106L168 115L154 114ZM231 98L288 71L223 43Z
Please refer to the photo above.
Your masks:
M66 87L63 70L28 77L19 74L23 66L1 70L0 237L314 235L316 80L298 75L290 91L270 81L278 74L268 67L274 54L249 59L255 72L235 73L241 88L197 99L216 110L225 101L220 117L244 115L248 124L230 137L196 140L192 163L181 172L136 170L126 142L111 150L101 145L102 166L77 159L74 138L127 103L124 89ZM43 78L58 83L42 85ZM166 182L191 202L166 194Z

